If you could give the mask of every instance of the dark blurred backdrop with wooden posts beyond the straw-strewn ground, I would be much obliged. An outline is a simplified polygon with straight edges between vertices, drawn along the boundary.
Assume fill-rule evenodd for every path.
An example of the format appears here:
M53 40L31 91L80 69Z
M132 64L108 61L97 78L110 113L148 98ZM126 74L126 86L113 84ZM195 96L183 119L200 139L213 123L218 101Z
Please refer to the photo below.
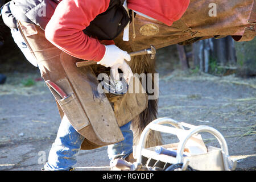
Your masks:
M188 46L164 47L157 51L156 67L159 71L162 67L169 68L168 72L181 69L216 76L234 74L243 78L255 77L256 40L238 43L227 36L200 40ZM0 19L0 73L28 73L37 70L23 56L14 43L9 28ZM0 81L1 84L3 82L5 81Z

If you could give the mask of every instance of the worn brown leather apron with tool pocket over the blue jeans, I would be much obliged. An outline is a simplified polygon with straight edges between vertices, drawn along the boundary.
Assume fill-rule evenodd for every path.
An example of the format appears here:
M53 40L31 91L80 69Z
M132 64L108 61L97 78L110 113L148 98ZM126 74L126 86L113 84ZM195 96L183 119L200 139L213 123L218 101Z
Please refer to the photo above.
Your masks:
M55 97L61 118L67 115L71 125L85 137L81 150L123 140L119 127L130 122L147 107L147 94L126 93L117 102L110 102L105 93L98 92L99 82L90 66L77 67L76 63L82 60L53 46L39 26L18 22L18 28L36 57L44 81L53 82L67 94L68 97L63 98L47 84Z

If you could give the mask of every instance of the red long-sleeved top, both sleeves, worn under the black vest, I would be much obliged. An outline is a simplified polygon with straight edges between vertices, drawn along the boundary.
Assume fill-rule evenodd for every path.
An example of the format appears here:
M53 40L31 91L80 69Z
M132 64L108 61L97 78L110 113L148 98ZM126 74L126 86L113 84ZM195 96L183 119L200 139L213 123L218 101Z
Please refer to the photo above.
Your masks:
M105 46L82 30L109 7L110 0L63 0L57 5L49 20L46 38L64 52L84 60L100 61ZM139 11L166 23L168 26L180 19L189 0L127 0L129 9Z

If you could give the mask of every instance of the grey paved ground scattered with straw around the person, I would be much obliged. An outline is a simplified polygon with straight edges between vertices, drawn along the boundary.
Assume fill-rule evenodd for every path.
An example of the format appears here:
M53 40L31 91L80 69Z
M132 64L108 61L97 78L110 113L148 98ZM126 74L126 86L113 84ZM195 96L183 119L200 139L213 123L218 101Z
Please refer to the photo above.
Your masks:
M229 155L238 159L236 170L255 170L256 79L174 71L164 59L159 56L157 62L158 118L217 129ZM55 100L37 69L5 75L6 84L0 85L0 170L40 170L60 125ZM218 147L212 135L202 135L206 144ZM166 144L176 142L175 136L162 136ZM79 151L77 160L77 170L109 169L107 147Z

